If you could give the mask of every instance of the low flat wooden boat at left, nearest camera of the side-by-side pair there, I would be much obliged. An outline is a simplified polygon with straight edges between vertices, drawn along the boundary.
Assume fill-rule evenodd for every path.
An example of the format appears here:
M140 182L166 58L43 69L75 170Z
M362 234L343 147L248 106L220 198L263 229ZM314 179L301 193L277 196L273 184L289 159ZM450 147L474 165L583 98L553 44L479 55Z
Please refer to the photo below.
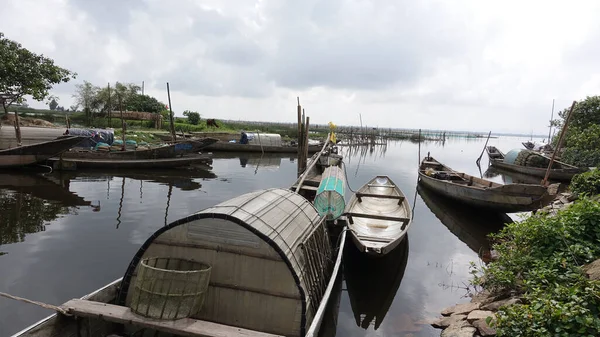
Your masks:
M55 170L75 169L167 169L196 164L210 164L208 154L164 159L48 159Z

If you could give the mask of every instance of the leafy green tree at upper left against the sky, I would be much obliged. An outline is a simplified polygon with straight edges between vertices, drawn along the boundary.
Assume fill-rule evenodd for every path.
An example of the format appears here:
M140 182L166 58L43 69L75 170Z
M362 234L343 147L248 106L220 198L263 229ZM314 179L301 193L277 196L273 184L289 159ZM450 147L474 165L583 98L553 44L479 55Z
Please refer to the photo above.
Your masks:
M52 86L68 82L76 75L0 33L0 100L5 114L8 107L21 103L26 95L42 101Z

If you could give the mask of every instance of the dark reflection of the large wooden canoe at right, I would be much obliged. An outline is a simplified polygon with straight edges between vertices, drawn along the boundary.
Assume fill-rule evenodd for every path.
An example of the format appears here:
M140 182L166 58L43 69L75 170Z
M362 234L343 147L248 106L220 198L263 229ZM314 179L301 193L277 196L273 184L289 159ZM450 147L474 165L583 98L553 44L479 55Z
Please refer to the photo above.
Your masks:
M459 240L467 244L471 250L479 254L484 261L489 258L488 235L498 232L505 224L513 222L505 213L467 207L421 186L417 187L417 191L427 207L444 226Z

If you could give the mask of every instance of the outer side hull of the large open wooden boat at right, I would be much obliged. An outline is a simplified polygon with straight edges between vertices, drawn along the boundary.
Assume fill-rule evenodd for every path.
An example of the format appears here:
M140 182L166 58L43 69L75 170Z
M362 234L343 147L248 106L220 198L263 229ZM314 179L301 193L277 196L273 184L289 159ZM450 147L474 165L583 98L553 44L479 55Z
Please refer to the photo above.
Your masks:
M532 211L543 207L549 200L547 193L540 197L506 195L494 189L482 190L440 181L419 172L419 184L437 194L464 202L470 206L503 213Z

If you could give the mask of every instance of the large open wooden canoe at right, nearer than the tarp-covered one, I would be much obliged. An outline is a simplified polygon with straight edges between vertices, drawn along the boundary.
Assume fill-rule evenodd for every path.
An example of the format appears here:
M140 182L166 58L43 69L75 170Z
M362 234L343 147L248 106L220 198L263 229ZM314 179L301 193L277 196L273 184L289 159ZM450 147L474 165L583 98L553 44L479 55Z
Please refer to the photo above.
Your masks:
M532 211L543 207L553 198L542 185L508 184L456 172L433 157L425 157L419 167L419 184L436 193L475 207L499 212ZM553 185L551 190L558 186Z

